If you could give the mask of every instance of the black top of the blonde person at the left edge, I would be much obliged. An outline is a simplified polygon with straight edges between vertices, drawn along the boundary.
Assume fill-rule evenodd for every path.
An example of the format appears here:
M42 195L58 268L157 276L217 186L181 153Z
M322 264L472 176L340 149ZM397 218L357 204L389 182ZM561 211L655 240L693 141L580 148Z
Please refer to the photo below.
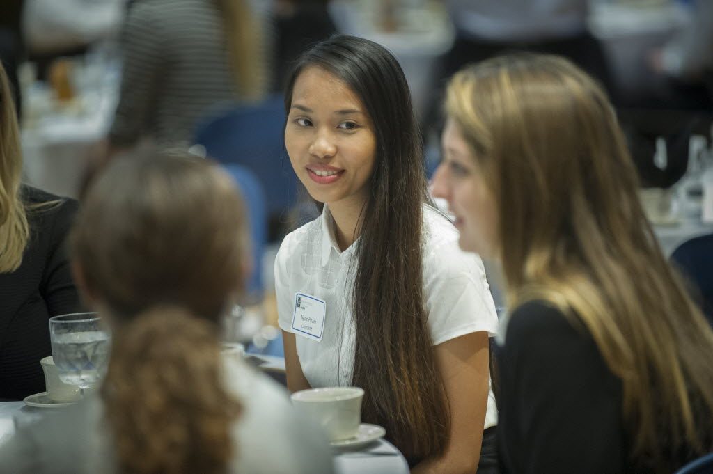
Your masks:
M29 205L60 200L32 187L23 192ZM77 207L76 201L63 199L29 210L22 263L0 274L0 398L21 400L45 390L40 359L52 354L48 319L81 311L64 242Z

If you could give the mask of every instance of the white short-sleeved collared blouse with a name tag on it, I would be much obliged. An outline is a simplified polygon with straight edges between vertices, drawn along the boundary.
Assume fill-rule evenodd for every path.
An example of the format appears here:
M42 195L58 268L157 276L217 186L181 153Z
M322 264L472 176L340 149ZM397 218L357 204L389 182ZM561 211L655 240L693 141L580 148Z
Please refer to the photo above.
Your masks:
M434 346L478 331L495 336L498 317L483 262L458 247L456 228L427 205L424 205L423 248L425 307ZM352 381L354 324L350 295L356 270L353 256L354 244L344 252L339 251L334 220L325 205L321 217L284 238L275 259L279 326L296 334L299 363L314 388L346 386ZM315 326L312 336L297 329L297 320L306 314L302 302L309 297L314 298L312 301L317 302L320 311L324 310L323 321L315 316L317 324L309 326ZM302 309L297 309L297 305ZM484 428L497 423L491 389Z

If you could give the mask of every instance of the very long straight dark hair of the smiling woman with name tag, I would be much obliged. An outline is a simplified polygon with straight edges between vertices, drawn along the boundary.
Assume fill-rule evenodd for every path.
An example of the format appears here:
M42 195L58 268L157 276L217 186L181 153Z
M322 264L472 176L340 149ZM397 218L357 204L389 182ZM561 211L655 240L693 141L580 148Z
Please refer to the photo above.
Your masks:
M405 455L438 455L448 440L450 415L424 309L423 206L430 200L409 86L385 48L362 38L334 36L297 62L287 83L287 110L294 82L309 66L324 68L349 86L364 104L376 135L352 289L352 384L364 388L361 416L384 425Z

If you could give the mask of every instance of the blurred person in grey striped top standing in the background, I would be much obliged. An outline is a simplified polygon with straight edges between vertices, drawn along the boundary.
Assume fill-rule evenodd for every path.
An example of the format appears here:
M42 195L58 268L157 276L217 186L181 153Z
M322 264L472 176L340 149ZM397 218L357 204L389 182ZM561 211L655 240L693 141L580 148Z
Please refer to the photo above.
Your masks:
M270 89L265 14L250 0L136 0L121 34L112 150L188 148L197 120Z

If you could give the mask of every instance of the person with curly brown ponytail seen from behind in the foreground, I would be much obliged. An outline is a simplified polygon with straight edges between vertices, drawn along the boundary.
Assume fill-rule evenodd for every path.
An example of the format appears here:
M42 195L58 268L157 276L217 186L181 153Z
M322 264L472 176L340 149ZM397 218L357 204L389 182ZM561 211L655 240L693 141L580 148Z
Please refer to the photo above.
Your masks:
M111 325L106 380L19 428L0 472L332 473L326 438L286 393L220 354L246 225L230 176L188 153L117 159L93 182L71 248L83 297Z

